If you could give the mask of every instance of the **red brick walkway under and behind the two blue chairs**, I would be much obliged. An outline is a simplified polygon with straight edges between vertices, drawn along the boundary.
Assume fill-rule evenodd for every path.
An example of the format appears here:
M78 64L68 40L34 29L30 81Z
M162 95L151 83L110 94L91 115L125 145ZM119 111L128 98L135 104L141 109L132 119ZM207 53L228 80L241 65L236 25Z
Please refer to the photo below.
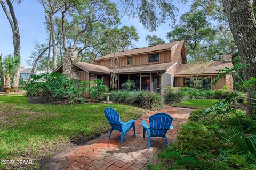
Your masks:
M157 161L156 153L165 148L163 138L151 138L151 148L147 149L148 139L143 138L141 120L147 120L156 112L166 112L173 117L173 130L167 132L168 141L175 140L179 123L186 123L192 109L166 106L162 111L150 112L136 120L136 137L131 129L126 133L123 145L120 132L103 134L83 146L55 155L42 169L145 169L148 162Z

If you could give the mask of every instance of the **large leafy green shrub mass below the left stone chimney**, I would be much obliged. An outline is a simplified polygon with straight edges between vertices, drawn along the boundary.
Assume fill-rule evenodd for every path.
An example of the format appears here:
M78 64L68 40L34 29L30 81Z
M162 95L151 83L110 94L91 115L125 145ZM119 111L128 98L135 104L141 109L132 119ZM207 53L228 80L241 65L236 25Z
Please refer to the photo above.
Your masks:
M32 81L26 84L26 90L27 96L36 98L36 101L85 101L81 83L78 80L68 80L65 75L59 73L33 75Z

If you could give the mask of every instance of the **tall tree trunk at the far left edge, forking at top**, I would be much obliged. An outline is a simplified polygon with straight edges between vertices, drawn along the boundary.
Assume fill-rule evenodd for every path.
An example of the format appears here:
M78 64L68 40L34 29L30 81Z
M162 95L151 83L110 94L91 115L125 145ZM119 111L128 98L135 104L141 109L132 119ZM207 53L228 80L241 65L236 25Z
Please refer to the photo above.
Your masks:
M16 15L14 13L12 2L10 0L6 0L6 2L9 7L10 13L7 11L7 8L5 7L4 2L2 0L0 0L0 3L5 12L5 15L7 16L7 19L12 28L12 40L13 40L14 55L20 57L20 31L19 31L18 21L17 21ZM13 75L12 91L14 91L14 92L18 91L19 80L20 80L20 62L18 63L18 68Z

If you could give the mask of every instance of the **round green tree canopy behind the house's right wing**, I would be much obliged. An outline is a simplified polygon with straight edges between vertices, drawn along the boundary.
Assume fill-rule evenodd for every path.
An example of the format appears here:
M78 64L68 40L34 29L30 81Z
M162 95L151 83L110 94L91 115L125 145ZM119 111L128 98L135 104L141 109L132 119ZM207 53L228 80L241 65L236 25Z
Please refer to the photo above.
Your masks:
M189 59L194 61L212 60L206 58L215 43L217 30L213 29L202 10L189 11L180 17L180 23L167 33L170 41L185 40Z

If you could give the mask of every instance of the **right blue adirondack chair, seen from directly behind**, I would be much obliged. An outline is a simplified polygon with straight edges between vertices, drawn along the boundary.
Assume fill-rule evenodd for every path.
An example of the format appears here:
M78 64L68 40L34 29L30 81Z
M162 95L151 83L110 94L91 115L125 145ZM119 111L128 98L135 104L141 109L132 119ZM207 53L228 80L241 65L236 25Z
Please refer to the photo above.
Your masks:
M143 126L143 138L145 138L146 131L148 133L148 149L150 149L151 137L165 138L166 146L168 147L166 132L169 129L173 129L172 120L173 118L170 115L159 112L149 117L149 126L146 121L141 121Z

